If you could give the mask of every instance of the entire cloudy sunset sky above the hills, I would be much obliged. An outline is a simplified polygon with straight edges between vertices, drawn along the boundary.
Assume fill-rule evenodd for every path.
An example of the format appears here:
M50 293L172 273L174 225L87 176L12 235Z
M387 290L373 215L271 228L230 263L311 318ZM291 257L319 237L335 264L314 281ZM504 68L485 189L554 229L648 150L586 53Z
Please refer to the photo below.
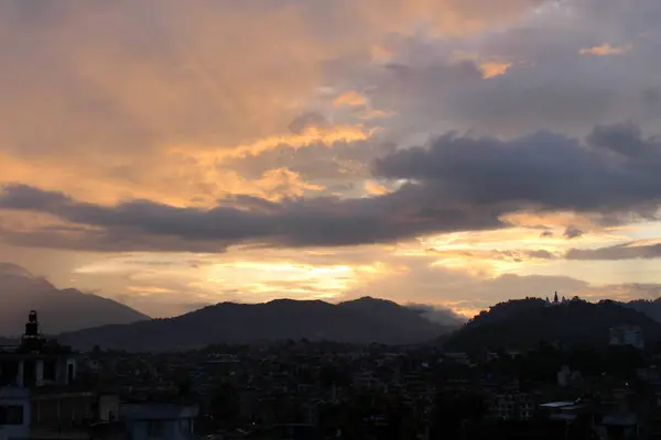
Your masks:
M658 0L0 3L0 261L153 317L661 295Z

